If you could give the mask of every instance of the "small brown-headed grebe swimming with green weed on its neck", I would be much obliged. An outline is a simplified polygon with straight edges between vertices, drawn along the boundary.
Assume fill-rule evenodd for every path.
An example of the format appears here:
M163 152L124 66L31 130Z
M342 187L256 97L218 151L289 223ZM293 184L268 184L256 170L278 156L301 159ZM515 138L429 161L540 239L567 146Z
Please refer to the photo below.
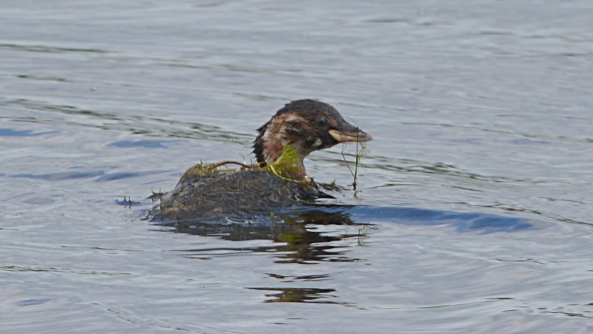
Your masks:
M347 123L334 107L308 99L286 104L257 131L259 135L253 144L256 167L221 171L209 167L218 164L198 164L189 168L175 189L161 196L151 212L152 219L250 220L254 215L327 197L307 178L303 159L313 151L340 142L372 139ZM291 158L286 159L286 155Z

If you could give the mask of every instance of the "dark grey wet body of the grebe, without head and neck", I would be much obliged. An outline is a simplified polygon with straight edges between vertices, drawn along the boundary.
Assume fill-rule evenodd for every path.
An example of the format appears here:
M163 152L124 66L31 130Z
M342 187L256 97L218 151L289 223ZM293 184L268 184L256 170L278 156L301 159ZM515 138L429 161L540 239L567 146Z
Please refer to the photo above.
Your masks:
M283 179L262 168L225 170L219 165L198 164L187 170L175 189L155 205L152 220L245 221L328 197L313 180Z

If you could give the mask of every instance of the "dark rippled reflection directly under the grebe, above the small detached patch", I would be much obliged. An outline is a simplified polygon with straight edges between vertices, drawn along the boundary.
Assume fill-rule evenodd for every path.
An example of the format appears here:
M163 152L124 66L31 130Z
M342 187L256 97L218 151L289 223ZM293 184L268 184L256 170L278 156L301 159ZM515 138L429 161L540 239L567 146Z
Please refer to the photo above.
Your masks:
M184 256L210 259L246 252L276 252L276 263L351 262L359 259L345 255L347 247L336 244L350 238L362 242L372 224L355 223L347 208L307 206L298 212L279 214L264 222L167 222L178 233L219 237L225 240L273 240L272 246L187 249ZM323 228L322 228L323 227Z

